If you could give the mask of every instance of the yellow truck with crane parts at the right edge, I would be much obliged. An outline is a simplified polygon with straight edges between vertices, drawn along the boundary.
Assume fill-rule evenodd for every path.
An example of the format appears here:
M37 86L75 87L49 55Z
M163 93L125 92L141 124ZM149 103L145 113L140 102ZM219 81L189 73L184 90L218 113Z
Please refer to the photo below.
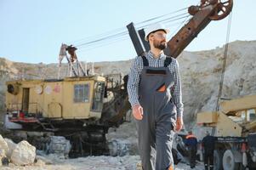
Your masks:
M197 124L213 127L214 168L256 168L256 95L220 102L219 111L200 112Z

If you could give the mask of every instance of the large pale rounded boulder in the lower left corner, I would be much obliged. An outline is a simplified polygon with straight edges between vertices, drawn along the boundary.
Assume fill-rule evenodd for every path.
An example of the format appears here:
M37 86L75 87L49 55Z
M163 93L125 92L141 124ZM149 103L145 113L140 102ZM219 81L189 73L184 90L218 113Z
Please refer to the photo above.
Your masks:
M15 165L28 165L35 161L36 147L29 144L26 140L22 140L13 150L11 161Z

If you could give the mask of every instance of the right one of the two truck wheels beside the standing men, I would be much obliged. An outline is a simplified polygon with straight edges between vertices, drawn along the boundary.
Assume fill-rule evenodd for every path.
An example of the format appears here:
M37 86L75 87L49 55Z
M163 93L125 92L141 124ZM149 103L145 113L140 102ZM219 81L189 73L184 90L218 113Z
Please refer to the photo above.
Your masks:
M231 150L225 150L222 159L222 165L224 170L238 170L239 163L235 162L235 156Z

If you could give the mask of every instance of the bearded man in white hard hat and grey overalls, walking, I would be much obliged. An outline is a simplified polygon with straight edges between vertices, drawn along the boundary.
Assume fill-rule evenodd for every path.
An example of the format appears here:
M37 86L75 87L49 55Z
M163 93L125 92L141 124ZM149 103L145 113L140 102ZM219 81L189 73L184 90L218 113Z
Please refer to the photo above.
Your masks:
M174 169L174 130L183 126L179 64L163 54L169 30L161 24L145 30L151 50L134 60L128 96L137 120L139 155L145 170Z

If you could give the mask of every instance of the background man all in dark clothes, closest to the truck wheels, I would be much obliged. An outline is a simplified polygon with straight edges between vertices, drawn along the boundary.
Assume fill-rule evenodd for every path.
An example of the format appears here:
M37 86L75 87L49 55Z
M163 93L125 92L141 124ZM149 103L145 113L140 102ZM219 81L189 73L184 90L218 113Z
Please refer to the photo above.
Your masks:
M207 131L207 135L202 139L202 147L204 149L203 152L203 161L205 170L213 170L213 153L214 153L214 145L215 145L215 137L211 136Z

